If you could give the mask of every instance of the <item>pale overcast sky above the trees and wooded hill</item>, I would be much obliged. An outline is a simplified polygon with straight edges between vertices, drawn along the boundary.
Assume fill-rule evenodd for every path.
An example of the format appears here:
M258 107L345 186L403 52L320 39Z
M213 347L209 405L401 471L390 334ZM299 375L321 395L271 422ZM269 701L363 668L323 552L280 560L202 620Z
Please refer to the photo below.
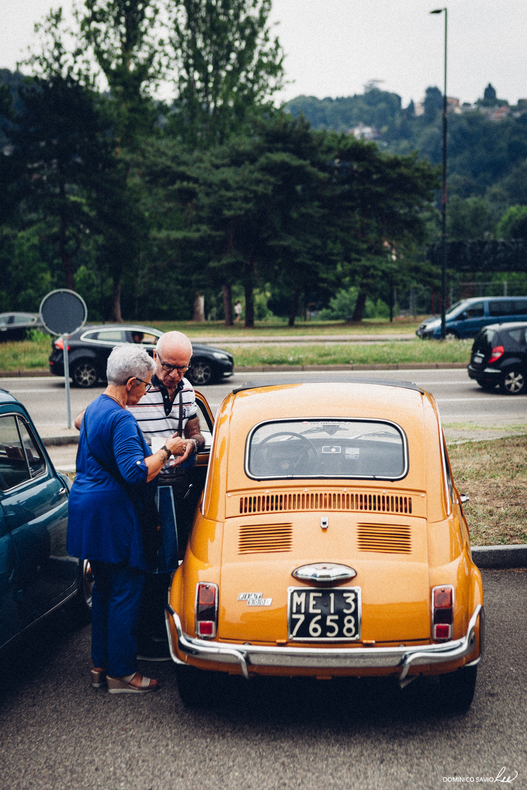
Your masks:
M0 0L0 67L15 68L51 5L60 2ZM62 6L68 13L72 0ZM444 22L428 13L436 7L434 0L273 0L292 81L280 98L350 96L382 80L379 87L406 105L428 85L442 89ZM472 103L491 82L510 103L527 98L527 2L450 0L448 12L448 95Z

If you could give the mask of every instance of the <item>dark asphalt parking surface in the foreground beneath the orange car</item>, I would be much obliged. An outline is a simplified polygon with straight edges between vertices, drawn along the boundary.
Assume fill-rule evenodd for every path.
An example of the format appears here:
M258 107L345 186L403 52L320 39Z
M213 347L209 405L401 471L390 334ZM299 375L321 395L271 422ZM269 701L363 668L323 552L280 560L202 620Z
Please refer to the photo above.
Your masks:
M527 571L484 571L484 589L487 649L457 717L437 713L421 679L401 691L236 678L228 703L190 711L171 663L141 665L158 693L109 695L88 684L89 626L70 630L58 611L2 656L0 787L437 790L504 769L527 788Z

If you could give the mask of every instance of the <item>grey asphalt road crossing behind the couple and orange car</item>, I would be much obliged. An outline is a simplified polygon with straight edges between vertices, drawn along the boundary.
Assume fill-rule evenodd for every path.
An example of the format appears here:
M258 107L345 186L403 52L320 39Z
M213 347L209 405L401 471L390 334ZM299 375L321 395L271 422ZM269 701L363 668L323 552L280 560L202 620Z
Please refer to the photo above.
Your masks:
M501 395L498 390L487 393L472 382L465 370L430 371L359 371L356 374L333 373L252 373L235 374L220 385L203 387L202 392L216 413L225 395L249 378L251 381L268 381L273 378L284 381L296 378L300 381L342 381L352 376L358 378L405 378L433 393L439 404L443 427L448 441L466 439L498 438L508 434L527 432L527 398ZM9 389L25 406L35 420L42 436L65 436L76 434L67 430L66 397L64 379L3 378L0 386ZM71 389L72 418L97 397L103 388ZM58 468L73 468L76 448L56 447L50 450L52 460Z

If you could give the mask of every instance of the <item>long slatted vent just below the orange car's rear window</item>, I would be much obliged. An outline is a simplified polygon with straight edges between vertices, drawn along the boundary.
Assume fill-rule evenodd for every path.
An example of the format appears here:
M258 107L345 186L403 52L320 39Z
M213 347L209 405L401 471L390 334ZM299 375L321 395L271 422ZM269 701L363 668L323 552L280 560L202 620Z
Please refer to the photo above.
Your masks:
M378 513L412 513L412 497L380 494L268 494L239 498L240 513L288 510L375 510Z

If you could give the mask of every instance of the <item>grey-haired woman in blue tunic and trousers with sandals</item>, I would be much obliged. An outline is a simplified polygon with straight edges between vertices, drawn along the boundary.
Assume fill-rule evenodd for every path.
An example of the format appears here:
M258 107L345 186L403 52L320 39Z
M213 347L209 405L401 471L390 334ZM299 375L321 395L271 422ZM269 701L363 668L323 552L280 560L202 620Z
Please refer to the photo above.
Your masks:
M106 681L111 694L157 688L156 680L137 672L135 627L149 551L159 529L152 506L156 476L172 454L183 455L184 442L167 438L152 455L125 408L149 389L155 370L144 348L123 344L113 349L108 386L82 419L77 477L70 492L68 551L89 559L95 580L92 686Z

